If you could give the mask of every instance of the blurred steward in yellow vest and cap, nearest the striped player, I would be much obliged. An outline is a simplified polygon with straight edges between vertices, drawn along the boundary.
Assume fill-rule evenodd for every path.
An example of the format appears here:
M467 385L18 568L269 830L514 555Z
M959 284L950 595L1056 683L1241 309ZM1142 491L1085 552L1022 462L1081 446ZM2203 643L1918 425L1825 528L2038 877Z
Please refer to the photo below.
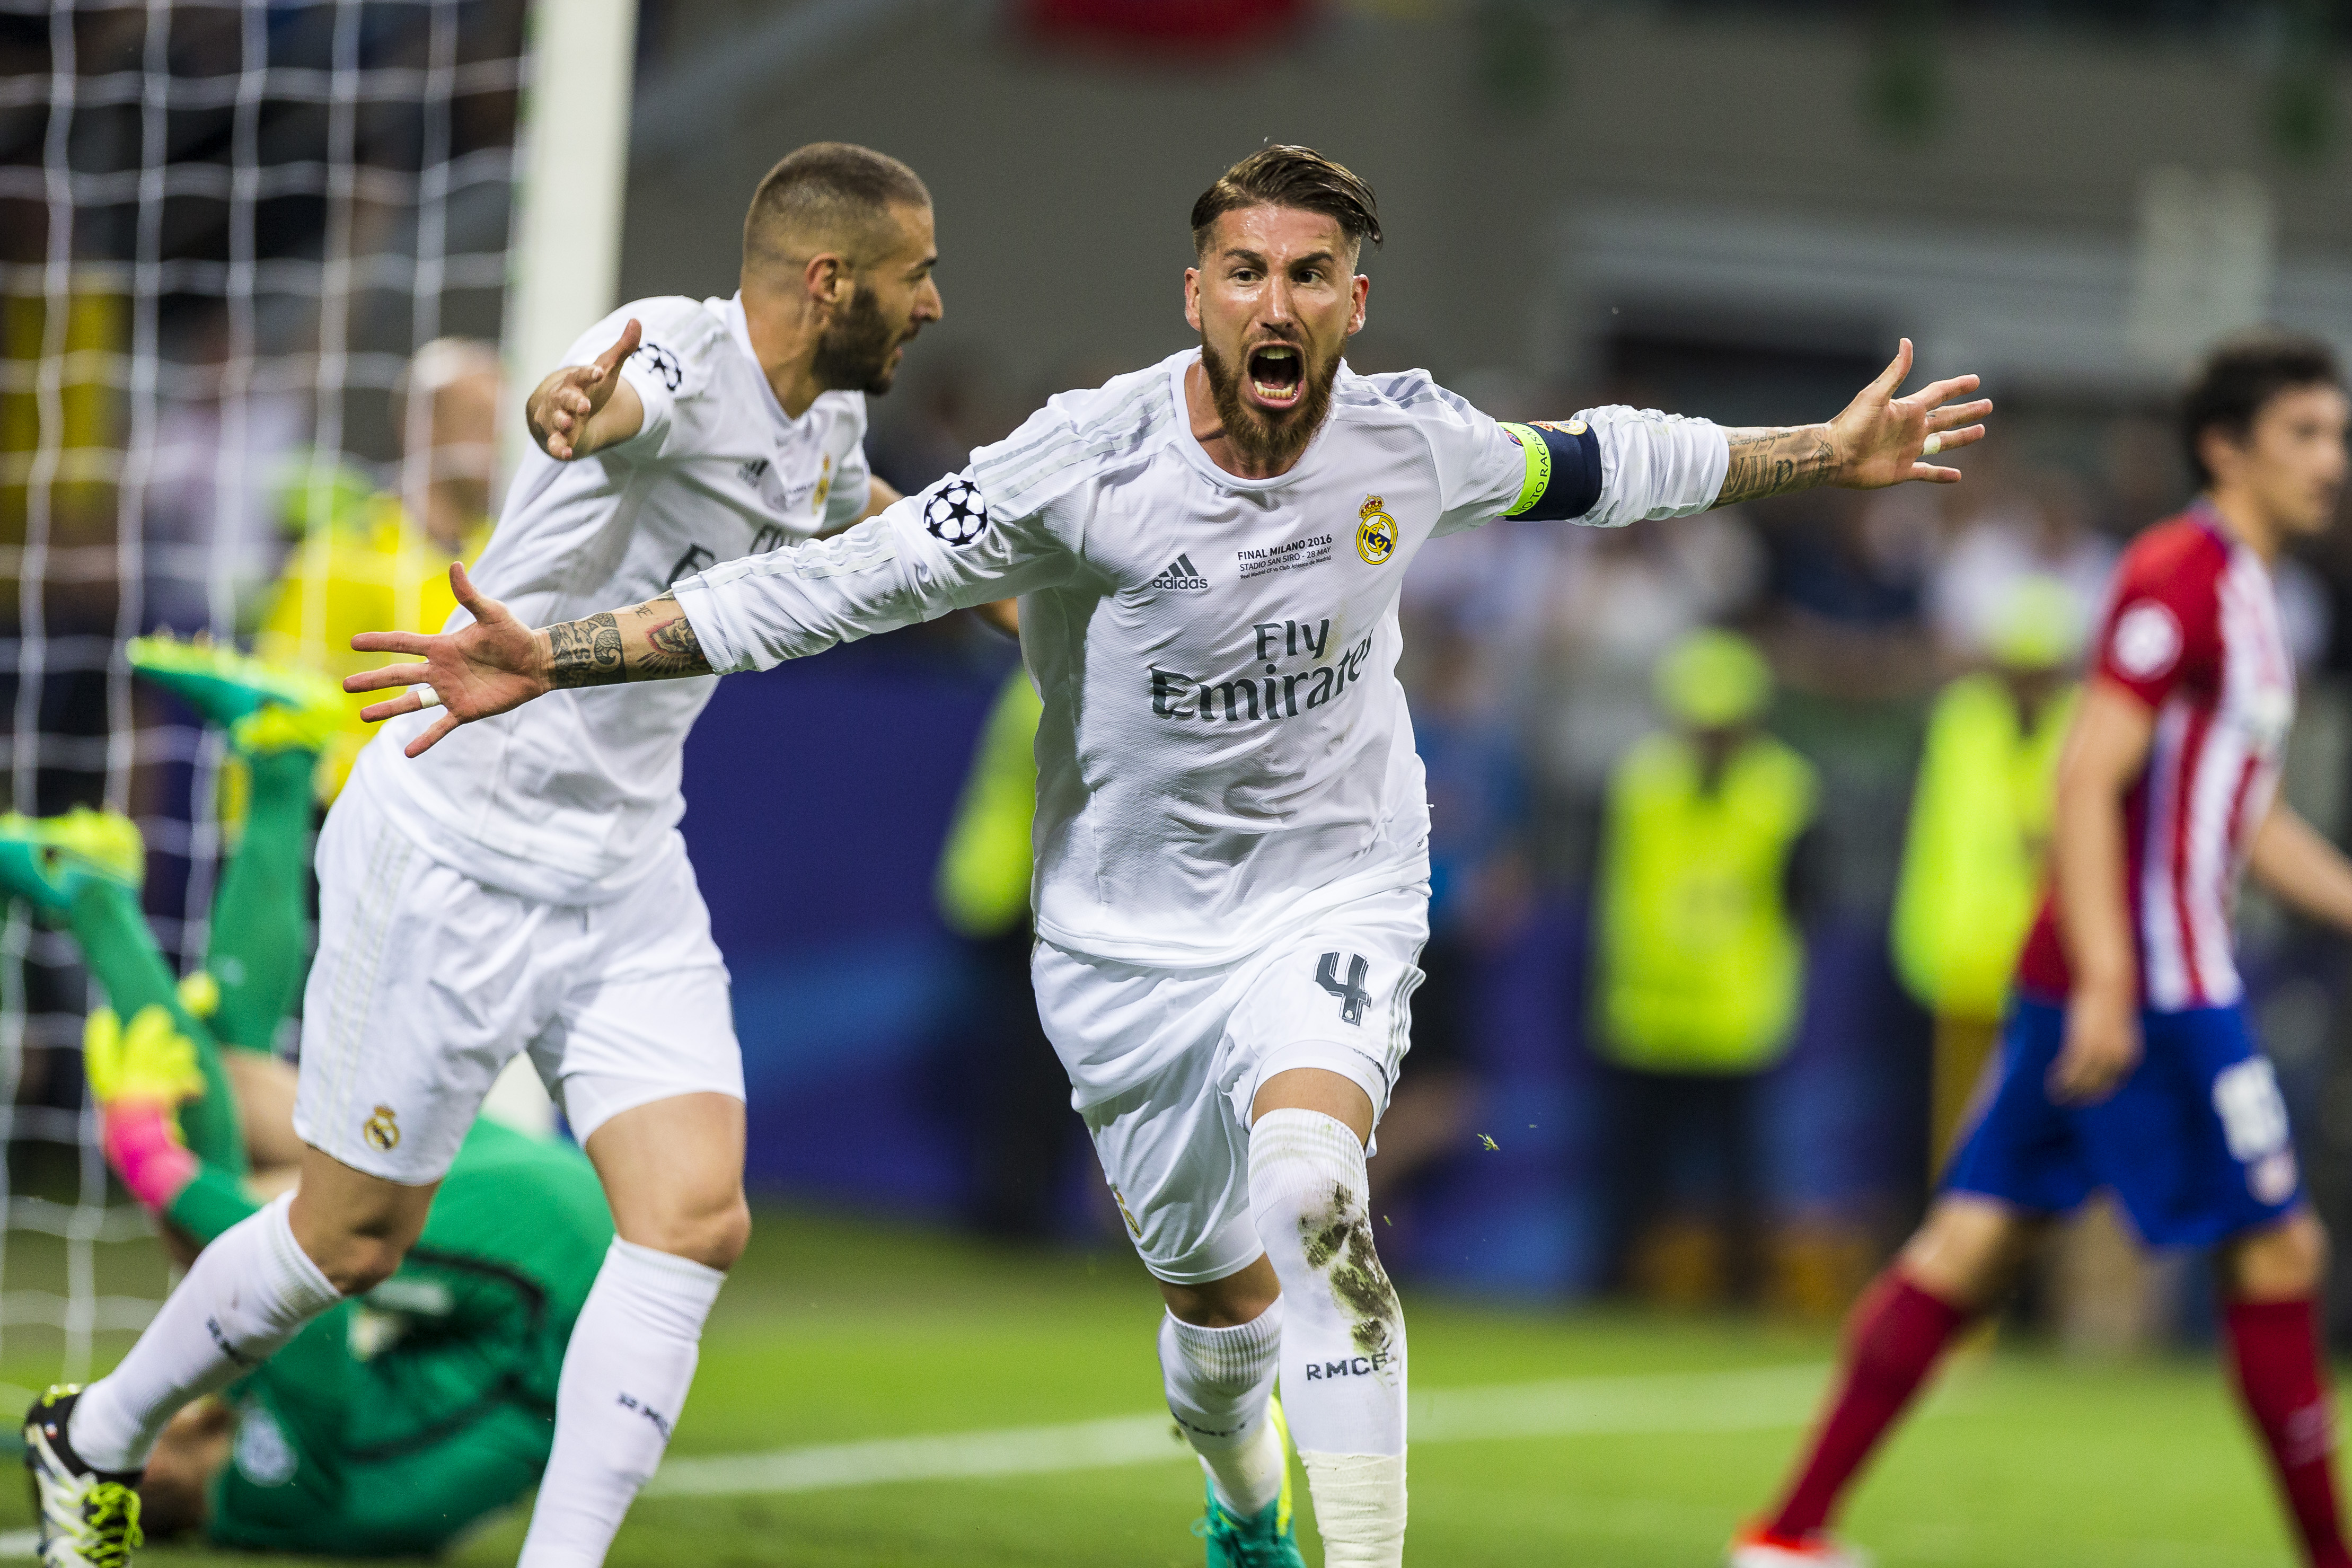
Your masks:
M1893 954L1936 1016L1929 1152L1940 1168L1992 1056L2034 924L2049 858L2058 748L2074 717L2065 677L2082 604L2056 578L2023 578L1994 616L1992 670L1943 689L1912 788Z

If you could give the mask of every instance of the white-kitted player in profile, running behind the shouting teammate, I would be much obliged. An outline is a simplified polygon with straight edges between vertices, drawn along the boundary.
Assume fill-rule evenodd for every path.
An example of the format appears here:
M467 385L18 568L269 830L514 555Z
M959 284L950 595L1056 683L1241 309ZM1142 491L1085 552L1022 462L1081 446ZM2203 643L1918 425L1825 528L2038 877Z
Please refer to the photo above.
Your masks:
M866 395L938 320L934 261L931 197L906 165L840 143L779 162L734 299L637 301L532 395L541 454L480 581L564 621L896 501L866 470ZM607 649L576 651L597 668ZM360 755L318 846L301 1190L205 1248L115 1373L35 1406L52 1563L120 1563L136 1512L103 1505L108 1483L172 1413L393 1272L517 1051L619 1232L572 1333L522 1561L604 1561L750 1232L727 969L677 835L682 745L713 684L567 691L421 762L397 752L421 724L395 724Z

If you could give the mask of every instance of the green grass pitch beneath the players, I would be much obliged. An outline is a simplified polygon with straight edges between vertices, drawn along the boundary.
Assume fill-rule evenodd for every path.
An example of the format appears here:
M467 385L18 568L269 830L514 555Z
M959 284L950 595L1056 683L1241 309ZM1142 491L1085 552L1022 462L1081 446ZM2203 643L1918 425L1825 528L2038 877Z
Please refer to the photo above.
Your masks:
M1823 1333L1738 1321L1472 1307L1411 1288L1404 1300L1416 1413L1442 1434L1414 1448L1409 1561L1444 1568L1722 1561L1729 1530L1778 1483L1832 1352ZM720 1298L670 1455L1141 1418L1160 1403L1155 1319L1157 1298L1127 1253L1014 1253L771 1211ZM101 1361L120 1338L103 1347ZM28 1335L9 1349L0 1371L14 1382L49 1371L19 1361ZM1576 1380L1576 1399L1599 1389L1599 1403L1578 1406L1590 1406L1583 1429L1555 1420L1557 1380ZM1496 1403L1491 1392L1510 1385L1555 1389ZM1748 1392L1717 1399L1719 1387ZM1663 1403L1651 1401L1661 1389ZM1489 1436L1484 1420L1515 1429ZM649 1495L612 1561L1176 1568L1202 1561L1188 1533L1197 1514L1197 1469L1169 1436L1164 1458L1103 1469ZM9 1488L0 1528L26 1523ZM2194 1359L2086 1366L1973 1349L1844 1523L1884 1568L2293 1561L2227 1389ZM513 1563L520 1542L517 1509L447 1561ZM174 1547L141 1561L252 1559ZM1322 1561L1312 1540L1308 1561Z

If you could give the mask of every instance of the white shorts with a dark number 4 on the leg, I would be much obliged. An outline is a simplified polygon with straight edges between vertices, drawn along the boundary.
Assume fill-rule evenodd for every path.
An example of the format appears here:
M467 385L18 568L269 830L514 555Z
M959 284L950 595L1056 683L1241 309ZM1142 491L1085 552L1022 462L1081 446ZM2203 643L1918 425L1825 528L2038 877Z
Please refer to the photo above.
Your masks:
M1037 943L1037 1016L1143 1267L1190 1286L1265 1251L1249 1218L1249 1107L1265 1079L1322 1067L1359 1084L1374 1119L1388 1110L1428 936L1430 889L1416 884L1216 969Z

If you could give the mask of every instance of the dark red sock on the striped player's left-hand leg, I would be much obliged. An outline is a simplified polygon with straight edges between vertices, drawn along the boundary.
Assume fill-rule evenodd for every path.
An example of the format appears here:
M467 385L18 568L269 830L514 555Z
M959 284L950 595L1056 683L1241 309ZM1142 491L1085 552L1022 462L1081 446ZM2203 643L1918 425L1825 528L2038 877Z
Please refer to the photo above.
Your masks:
M1830 1521L1846 1481L1879 1446L1879 1436L1912 1401L1943 1347L1971 1316L1896 1269L1879 1274L1846 1319L1846 1361L1839 1368L1837 1396L1813 1432L1813 1448L1790 1483L1788 1500L1773 1514L1773 1535L1804 1540Z

